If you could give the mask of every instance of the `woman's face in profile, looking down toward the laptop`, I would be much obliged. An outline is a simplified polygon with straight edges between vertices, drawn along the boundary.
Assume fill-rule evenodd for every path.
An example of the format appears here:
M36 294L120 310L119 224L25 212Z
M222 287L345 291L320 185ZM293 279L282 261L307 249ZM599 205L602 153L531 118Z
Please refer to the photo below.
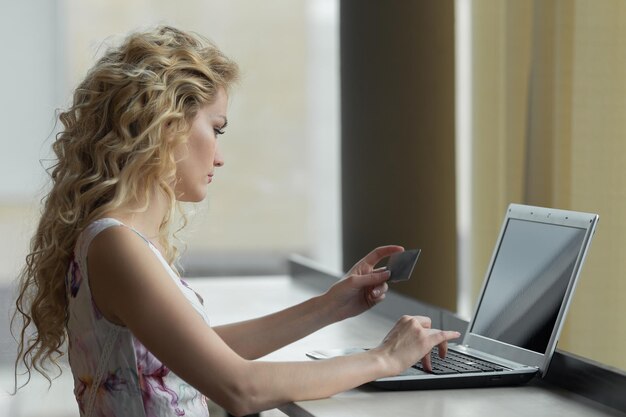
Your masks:
M204 200L215 168L224 165L217 136L224 133L223 129L226 127L227 105L226 91L220 88L215 101L201 107L196 114L187 142L174 150L178 179L174 192L177 200Z

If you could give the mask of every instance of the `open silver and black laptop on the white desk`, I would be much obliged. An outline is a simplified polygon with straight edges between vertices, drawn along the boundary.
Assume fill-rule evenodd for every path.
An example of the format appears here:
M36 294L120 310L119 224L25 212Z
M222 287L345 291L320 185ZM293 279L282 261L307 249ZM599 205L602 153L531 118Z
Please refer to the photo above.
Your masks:
M597 222L596 214L511 204L462 342L449 344L445 361L431 353L432 373L418 362L370 384L447 389L517 385L543 377ZM307 353L314 359L336 354Z

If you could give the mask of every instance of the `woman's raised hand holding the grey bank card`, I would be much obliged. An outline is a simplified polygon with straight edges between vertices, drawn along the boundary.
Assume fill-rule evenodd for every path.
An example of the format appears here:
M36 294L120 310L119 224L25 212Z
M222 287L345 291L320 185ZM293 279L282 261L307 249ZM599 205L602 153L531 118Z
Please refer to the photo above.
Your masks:
M361 314L385 298L390 273L384 267L374 267L382 259L402 251L404 248L396 245L374 249L329 288L324 296L331 304L336 321Z

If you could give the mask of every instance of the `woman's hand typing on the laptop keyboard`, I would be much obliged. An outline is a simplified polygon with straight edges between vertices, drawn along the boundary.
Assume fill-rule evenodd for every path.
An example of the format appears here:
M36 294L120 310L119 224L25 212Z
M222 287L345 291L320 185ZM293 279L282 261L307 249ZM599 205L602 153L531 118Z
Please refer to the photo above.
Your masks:
M397 375L422 360L426 371L431 371L430 351L439 346L439 356L448 351L448 340L461 336L459 332L431 329L431 320L423 316L402 316L382 343L374 349L383 355L390 371Z

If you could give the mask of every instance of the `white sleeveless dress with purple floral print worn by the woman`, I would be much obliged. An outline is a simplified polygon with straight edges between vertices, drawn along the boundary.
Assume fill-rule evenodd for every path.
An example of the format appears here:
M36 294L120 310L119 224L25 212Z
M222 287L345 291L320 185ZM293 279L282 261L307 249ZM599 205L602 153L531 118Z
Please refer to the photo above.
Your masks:
M116 219L91 223L78 237L66 276L68 357L81 417L208 417L204 395L171 372L129 329L102 316L91 296L87 250ZM136 230L172 280L208 324L201 298L168 265L159 250ZM138 300L140 302L140 300Z

